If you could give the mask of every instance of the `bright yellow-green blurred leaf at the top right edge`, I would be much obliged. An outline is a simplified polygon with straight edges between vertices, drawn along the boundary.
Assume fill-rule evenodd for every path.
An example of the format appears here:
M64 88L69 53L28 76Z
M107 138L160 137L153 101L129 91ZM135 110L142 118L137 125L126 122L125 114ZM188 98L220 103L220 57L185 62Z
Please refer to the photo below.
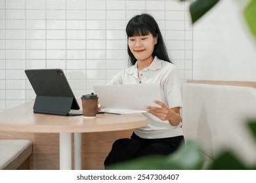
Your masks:
M256 0L251 0L250 3L244 9L245 20L256 38Z

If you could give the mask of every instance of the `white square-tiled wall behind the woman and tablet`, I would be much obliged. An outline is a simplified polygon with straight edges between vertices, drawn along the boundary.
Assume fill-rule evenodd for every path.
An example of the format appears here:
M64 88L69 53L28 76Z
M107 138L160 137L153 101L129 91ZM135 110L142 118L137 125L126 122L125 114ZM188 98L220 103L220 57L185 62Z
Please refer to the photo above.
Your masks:
M0 0L0 110L34 99L25 69L61 68L79 98L127 67L125 26L156 18L181 84L192 78L192 26L179 0Z

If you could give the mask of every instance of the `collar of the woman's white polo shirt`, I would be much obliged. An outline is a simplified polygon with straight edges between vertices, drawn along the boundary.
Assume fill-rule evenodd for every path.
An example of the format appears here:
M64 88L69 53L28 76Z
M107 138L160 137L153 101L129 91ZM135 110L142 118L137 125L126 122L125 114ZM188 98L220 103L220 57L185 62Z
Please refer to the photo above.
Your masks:
M148 70L156 71L158 69L161 69L161 63L163 63L163 60L158 59L158 57L155 56L152 63L144 69L145 69L145 71L148 71ZM137 67L138 67L138 63L136 62L135 65L128 67L126 69L126 73L129 75L133 75L134 73L137 74Z

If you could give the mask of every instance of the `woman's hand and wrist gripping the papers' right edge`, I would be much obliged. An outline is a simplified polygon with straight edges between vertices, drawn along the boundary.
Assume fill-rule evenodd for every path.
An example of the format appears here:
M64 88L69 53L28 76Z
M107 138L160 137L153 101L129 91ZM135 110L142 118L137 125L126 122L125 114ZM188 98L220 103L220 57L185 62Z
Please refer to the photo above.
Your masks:
M153 114L162 121L169 120L171 125L179 125L181 122L180 107L169 108L161 101L154 101L154 103L160 105L160 107L146 106L146 112ZM179 122L176 122L176 119L179 120Z

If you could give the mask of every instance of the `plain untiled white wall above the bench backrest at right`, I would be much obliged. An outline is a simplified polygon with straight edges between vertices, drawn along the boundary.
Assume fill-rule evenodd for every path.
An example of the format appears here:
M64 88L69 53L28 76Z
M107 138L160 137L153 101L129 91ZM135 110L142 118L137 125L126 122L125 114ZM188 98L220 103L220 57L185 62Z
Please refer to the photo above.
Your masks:
M256 40L241 3L246 1L220 1L194 24L193 79L256 80Z

